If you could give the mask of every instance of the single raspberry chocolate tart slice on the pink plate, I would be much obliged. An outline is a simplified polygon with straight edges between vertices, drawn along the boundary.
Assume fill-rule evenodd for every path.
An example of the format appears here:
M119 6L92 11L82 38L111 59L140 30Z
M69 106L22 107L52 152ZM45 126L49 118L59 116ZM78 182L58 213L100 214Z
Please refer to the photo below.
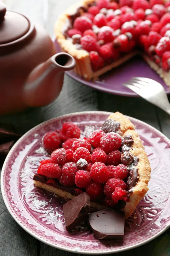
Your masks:
M151 172L132 122L116 112L90 138L79 138L72 123L64 123L59 134L49 132L43 138L48 151L59 147L59 138L65 142L40 163L35 186L66 200L87 192L92 209L118 209L130 217L148 190Z

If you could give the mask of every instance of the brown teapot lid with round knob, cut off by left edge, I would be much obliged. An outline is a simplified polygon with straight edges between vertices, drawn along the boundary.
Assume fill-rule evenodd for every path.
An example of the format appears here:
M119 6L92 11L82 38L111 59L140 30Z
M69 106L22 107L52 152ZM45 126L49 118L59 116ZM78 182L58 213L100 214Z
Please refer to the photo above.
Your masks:
M29 20L17 12L6 12L0 2L0 45L13 42L25 35L30 28Z

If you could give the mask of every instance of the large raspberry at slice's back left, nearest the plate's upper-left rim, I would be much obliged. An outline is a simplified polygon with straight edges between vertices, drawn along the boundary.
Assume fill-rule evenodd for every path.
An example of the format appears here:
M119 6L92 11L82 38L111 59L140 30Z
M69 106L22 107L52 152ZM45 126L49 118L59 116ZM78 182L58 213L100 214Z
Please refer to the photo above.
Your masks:
M43 146L48 152L52 152L59 148L61 143L59 134L55 131L47 132L42 138Z

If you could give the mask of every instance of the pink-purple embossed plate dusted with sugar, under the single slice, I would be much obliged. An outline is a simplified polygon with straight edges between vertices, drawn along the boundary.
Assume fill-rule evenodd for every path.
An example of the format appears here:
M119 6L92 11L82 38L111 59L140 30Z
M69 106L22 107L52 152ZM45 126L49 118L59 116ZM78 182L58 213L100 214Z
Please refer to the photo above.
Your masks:
M74 122L89 136L109 116L108 112L79 112L43 122L28 131L11 149L3 165L1 188L8 211L17 223L40 241L62 250L105 254L128 250L156 238L170 227L170 140L155 128L130 118L141 136L152 167L149 192L126 221L123 241L98 241L91 230L65 230L62 201L34 188L33 176L48 155L42 136Z

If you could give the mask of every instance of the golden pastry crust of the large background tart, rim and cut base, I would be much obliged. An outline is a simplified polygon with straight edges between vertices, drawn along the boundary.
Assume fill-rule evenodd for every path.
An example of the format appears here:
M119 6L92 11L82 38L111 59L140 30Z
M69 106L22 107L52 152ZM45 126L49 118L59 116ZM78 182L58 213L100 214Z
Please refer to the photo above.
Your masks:
M114 67L118 67L130 58L133 58L133 56L138 53L137 51L130 52L122 58L119 58L119 60L113 62L112 64L109 64L102 69L94 72L91 68L89 53L83 49L78 50L75 44L72 44L70 40L65 39L64 30L65 26L67 26L67 24L69 23L70 16L73 15L77 9L80 10L80 13L83 12L83 10L81 9L82 6L88 8L88 4L94 2L95 0L81 0L73 6L69 7L64 13L59 16L54 28L57 41L62 51L71 54L76 60L76 67L74 71L86 80L91 80L92 78L96 80L102 74L108 72L109 70L112 70Z

